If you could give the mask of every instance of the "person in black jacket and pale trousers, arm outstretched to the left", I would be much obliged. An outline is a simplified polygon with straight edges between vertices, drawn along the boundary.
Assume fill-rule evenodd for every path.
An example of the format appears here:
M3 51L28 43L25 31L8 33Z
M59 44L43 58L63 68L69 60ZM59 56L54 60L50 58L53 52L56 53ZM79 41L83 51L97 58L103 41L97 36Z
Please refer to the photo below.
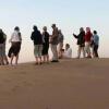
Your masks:
M81 51L83 51L83 57L85 58L85 31L83 27L80 28L80 34L73 36L77 39L78 50L77 50L77 59L81 57Z

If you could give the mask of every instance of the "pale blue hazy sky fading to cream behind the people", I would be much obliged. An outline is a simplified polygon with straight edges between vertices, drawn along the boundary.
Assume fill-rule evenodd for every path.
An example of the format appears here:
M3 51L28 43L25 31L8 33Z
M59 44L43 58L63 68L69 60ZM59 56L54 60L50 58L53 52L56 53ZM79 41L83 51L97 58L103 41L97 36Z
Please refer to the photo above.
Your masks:
M76 40L72 33L78 33L81 26L97 29L100 36L99 52L109 57L109 0L0 0L0 27L10 38L14 26L20 26L23 35L21 61L34 60L31 33L36 24L41 31L56 23L70 43L73 57L76 56ZM7 50L10 45L8 44ZM26 57L25 57L26 56Z

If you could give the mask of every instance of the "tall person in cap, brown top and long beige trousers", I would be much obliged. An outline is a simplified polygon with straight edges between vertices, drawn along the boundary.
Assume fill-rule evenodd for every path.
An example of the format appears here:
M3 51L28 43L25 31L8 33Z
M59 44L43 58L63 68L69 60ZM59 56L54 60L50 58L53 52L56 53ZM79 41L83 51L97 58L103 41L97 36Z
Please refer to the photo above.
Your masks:
M51 51L52 51L52 61L51 62L59 62L58 51L57 51L59 32L58 32L58 27L56 26L56 24L52 24L51 27L52 27L52 35L50 37Z

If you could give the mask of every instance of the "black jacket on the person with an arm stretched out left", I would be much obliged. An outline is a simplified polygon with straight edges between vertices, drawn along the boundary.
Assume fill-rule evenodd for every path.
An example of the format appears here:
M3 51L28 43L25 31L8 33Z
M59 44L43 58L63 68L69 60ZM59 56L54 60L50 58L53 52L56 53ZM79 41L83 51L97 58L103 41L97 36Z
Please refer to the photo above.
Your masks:
M85 45L85 32L81 32L78 35L74 35L75 38L77 38L77 45L84 46Z

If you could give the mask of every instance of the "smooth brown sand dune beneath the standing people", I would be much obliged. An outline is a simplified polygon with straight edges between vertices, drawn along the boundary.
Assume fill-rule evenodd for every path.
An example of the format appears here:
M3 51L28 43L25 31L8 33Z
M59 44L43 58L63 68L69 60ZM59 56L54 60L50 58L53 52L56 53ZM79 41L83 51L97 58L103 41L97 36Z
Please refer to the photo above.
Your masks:
M109 109L109 59L0 66L0 109Z

